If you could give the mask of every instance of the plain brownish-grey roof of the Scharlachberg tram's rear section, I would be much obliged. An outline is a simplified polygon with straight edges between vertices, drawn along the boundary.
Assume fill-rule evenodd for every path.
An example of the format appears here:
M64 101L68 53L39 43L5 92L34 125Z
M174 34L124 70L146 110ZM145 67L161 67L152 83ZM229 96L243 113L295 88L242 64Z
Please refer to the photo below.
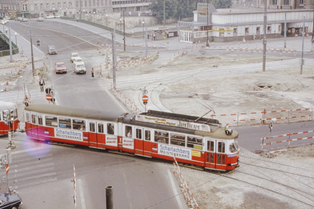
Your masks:
M51 115L63 115L70 117L97 119L97 120L109 120L118 122L120 116L125 112L104 112L97 109L87 109L79 107L67 107L60 105L48 105L48 104L30 104L24 108L28 111L40 112Z

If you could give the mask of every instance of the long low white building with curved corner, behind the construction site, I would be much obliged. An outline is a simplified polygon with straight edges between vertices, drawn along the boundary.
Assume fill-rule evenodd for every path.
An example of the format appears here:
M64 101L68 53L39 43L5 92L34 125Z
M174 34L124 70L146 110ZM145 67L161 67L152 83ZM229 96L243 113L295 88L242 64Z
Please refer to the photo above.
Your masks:
M270 1L268 0L268 3ZM300 3L300 0L297 2ZM282 2L278 0L277 8L272 8L272 5L269 5L267 8L267 37L280 37L284 31L286 31L287 36L299 36L303 30L303 22L305 33L311 34L313 31L314 4L312 4L312 8L291 9L295 5L295 0ZM285 6L289 6L289 9ZM206 41L207 37L209 37L209 41L214 42L241 40L245 36L249 39L253 39L253 36L259 39L264 34L265 8L264 6L261 7L262 4L258 7L215 9L210 4L198 3L198 10L194 11L192 23L178 22L180 40L196 43ZM285 23L286 28L284 27ZM192 30L181 30L180 26L182 25L189 25Z

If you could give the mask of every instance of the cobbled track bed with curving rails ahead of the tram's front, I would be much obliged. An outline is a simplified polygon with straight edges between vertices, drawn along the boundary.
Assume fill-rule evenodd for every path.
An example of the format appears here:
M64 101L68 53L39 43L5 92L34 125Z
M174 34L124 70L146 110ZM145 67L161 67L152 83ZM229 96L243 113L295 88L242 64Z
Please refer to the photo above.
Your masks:
M253 165L252 163L265 163L262 165ZM261 159L255 159L251 163L241 163L244 166L237 168L225 174L217 175L241 182L244 185L251 185L253 188L262 189L263 192L272 192L279 195L279 199L284 201L297 201L299 202L299 208L312 208L314 206L314 187L313 176L302 175L299 169L312 171L309 169L302 169L296 166L285 165L281 163L274 163L275 166L269 166L268 162ZM278 169L278 167L285 167L284 169ZM290 171L289 171L290 170ZM294 171L297 170L297 171Z

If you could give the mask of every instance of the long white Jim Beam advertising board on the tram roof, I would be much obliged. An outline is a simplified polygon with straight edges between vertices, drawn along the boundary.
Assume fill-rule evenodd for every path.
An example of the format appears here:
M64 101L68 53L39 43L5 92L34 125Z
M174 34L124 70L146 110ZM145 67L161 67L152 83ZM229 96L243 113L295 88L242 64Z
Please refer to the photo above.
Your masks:
M187 121L180 121L180 120L173 120L168 118L158 118L152 116L144 116L144 115L137 115L135 120L147 122L147 123L155 123L155 124L162 124L167 126L176 126L181 128L188 128L192 130L199 130L199 131L206 131L210 132L210 127L207 124L200 124L200 123L193 123Z

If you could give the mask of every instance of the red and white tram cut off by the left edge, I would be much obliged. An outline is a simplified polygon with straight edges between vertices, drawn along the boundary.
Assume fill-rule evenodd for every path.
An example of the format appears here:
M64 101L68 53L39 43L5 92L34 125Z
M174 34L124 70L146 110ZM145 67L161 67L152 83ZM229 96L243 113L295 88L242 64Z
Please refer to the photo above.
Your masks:
M0 135L7 134L9 130L19 128L17 106L12 102L0 101Z

